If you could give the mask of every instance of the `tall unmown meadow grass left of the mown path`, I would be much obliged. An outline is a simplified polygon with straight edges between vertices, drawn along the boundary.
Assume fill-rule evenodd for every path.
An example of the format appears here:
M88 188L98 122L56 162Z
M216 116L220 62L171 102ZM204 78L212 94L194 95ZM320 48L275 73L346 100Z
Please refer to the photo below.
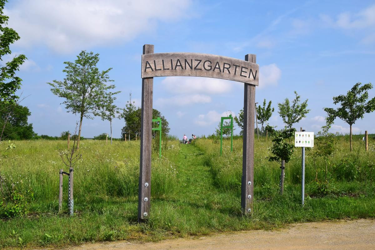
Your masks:
M10 189L20 192L32 190L35 212L56 211L59 169L63 165L59 149L66 148L65 141L17 141L17 150L3 155L0 172ZM82 141L82 159L74 168L74 199L78 210L90 201L105 197L138 196L139 141ZM162 197L173 192L176 181L175 155L179 144L168 142L163 156L153 154L152 195ZM68 178L64 178L64 195L67 197Z

